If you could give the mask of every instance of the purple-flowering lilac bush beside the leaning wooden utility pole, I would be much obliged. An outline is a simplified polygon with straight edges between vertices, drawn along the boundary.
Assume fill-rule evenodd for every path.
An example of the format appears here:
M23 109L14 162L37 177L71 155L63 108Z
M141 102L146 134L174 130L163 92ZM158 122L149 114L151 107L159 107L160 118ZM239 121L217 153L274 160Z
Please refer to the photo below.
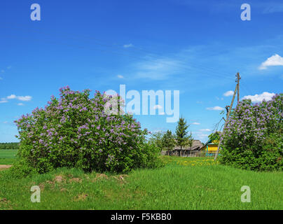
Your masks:
M253 170L282 170L283 94L240 102L223 132L220 162Z

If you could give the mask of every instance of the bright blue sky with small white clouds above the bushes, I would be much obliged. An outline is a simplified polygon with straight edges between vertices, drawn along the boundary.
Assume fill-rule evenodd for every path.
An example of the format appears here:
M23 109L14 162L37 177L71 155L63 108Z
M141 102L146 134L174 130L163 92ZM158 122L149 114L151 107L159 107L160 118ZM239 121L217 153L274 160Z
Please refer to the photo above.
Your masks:
M32 21L32 3L41 21ZM251 20L242 21L242 3ZM8 1L0 3L0 142L16 141L13 120L46 105L59 88L179 90L180 115L195 139L240 98L282 92L283 2ZM228 92L229 93L229 92ZM218 110L220 109L220 110ZM166 116L136 116L151 131L175 130Z

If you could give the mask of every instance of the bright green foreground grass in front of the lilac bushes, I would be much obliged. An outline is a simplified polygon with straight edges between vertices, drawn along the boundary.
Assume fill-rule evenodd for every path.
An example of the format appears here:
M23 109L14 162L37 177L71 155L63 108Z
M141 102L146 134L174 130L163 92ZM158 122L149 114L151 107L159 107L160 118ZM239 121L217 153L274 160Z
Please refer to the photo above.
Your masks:
M251 172L212 158L163 157L160 169L127 176L57 169L25 179L0 172L0 209L283 209L283 173ZM56 181L57 180L57 181ZM30 188L41 187L41 202ZM241 202L242 186L251 202Z

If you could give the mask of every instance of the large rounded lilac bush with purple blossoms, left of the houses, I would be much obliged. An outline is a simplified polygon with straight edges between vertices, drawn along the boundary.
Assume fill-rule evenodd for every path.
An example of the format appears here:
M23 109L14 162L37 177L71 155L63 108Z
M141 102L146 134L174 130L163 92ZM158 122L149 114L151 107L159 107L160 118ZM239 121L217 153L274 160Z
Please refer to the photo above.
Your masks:
M90 90L61 88L60 98L52 97L45 109L16 120L20 160L39 173L57 167L99 172L155 167L158 158L146 145L147 130L128 114L104 112L111 96L89 95Z

